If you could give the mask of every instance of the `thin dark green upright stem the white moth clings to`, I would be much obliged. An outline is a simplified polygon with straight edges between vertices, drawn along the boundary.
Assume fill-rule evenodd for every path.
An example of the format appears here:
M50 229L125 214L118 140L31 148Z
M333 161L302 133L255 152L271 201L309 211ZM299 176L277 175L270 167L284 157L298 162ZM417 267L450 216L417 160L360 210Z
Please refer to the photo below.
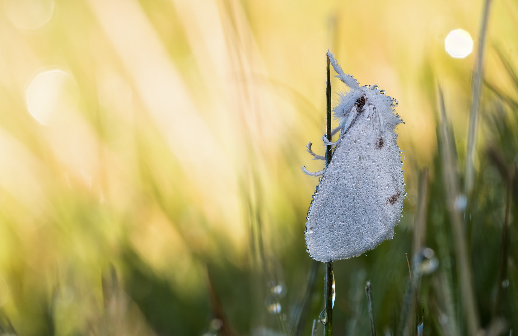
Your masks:
M331 76L329 73L329 57L327 59L327 87L326 87L326 123L327 123L327 141L331 141ZM326 145L325 151L325 167L331 161L331 145ZM333 261L325 263L324 274L324 297L325 297L325 323L324 336L333 336Z

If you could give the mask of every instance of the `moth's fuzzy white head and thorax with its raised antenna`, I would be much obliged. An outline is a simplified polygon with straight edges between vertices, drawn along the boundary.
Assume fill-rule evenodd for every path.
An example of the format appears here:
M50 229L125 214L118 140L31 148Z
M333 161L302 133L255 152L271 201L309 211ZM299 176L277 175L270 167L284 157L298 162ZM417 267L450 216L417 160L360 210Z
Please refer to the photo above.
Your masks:
M334 108L334 116L338 120L341 134L346 133L362 115L378 121L382 138L385 137L387 131L394 131L394 128L402 122L399 116L393 113L395 110L392 107L397 104L397 100L385 96L385 91L378 90L378 85L359 86L354 76L343 72L342 67L336 62L330 51L327 51L327 56L338 74L336 77L350 88L347 92L339 93L339 103Z

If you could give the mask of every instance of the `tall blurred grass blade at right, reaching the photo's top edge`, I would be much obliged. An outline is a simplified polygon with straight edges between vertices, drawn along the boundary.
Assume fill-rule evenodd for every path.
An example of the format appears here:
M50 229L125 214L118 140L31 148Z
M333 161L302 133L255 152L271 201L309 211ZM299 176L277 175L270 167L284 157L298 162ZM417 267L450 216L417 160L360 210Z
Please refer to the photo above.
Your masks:
M473 66L471 78L471 102L468 129L468 147L466 152L466 173L464 190L466 197L470 198L473 189L473 151L477 133L477 118L480 108L480 96L482 93L482 79L484 78L484 46L487 32L487 19L489 16L491 0L485 0L482 22L476 55L476 63Z

